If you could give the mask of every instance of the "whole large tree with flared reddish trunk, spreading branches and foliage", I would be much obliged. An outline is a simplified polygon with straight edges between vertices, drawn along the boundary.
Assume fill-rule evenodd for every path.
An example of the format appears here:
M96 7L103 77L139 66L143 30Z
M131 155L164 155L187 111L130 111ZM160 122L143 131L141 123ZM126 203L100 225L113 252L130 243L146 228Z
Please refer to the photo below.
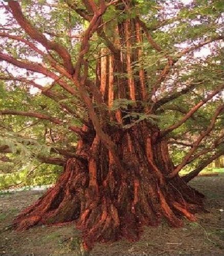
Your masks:
M31 134L18 127L46 135L51 123L54 157L36 157L64 166L15 229L75 221L91 248L136 241L163 218L173 227L183 216L194 221L203 195L187 181L224 152L222 1L9 0L1 8L2 127L23 144ZM182 159L172 161L175 149Z

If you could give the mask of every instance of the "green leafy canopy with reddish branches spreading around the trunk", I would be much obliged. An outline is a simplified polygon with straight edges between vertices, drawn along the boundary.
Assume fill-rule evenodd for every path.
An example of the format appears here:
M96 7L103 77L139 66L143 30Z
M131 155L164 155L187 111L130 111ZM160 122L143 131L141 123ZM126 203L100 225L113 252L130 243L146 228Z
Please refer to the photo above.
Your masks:
M147 73L147 98L141 104L149 111L127 112L125 118L135 118L124 126L144 119L158 123L164 136L169 133L173 161L180 168L190 163L197 169L205 167L220 156L223 117L216 113L219 118L213 124L211 119L223 102L222 1L136 0L128 14L119 9L122 1L111 1L102 4L101 25L95 28L89 5L99 8L101 4L91 2L26 0L21 5L16 1L1 4L1 152L13 153L2 155L2 161L13 161L15 170L24 162L18 161L18 153L23 160L58 165L75 156L77 139L83 133L81 125L88 119L86 110L90 111L83 97L89 99L97 93L93 91L95 67L98 59L108 54L105 48L111 52L126 49L114 43L114 20L128 16L139 17L145 35L132 46L132 50L140 47L144 52L132 68L133 72L144 69ZM87 71L85 63L79 63L83 55ZM84 92L81 80L77 84L71 81L74 72L75 79L80 75L85 78ZM133 101L115 100L110 111L128 109ZM105 106L96 100L91 108ZM9 165L1 165L4 172Z

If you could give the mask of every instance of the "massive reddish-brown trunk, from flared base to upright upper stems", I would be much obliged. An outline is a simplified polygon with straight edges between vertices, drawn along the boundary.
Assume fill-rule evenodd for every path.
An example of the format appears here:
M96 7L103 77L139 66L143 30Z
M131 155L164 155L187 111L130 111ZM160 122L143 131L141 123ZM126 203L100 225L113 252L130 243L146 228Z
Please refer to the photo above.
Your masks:
M119 98L135 102L125 110L109 110L106 119L104 110L99 109L100 125L116 145L117 158L92 125L83 127L86 136L80 139L76 152L80 158L69 159L56 185L16 218L17 230L75 221L83 231L86 247L91 248L94 242L121 237L136 241L143 226L158 225L163 218L180 227L183 216L194 221L195 212L203 210L200 193L178 176L166 178L174 166L159 127L127 116L131 111L148 112L148 106L141 103L147 97L147 76L141 61L137 71L131 65L143 54L139 44L142 31L138 19L126 20L116 30L119 38L114 39L115 44L126 48L117 54L102 50L96 84L109 108ZM136 43L138 47L133 49Z

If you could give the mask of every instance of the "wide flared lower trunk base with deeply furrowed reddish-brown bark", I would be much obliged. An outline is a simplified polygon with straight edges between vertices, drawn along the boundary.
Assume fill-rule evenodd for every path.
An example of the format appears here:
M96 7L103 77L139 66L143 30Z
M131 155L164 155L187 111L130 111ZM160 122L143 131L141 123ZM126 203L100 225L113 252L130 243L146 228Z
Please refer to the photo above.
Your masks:
M164 180L173 166L159 132L144 121L110 132L125 169L117 167L98 137L80 141L77 155L85 161L68 160L55 187L16 218L17 230L75 221L91 248L121 237L136 241L143 226L163 218L174 227L183 225L182 216L195 220L202 197L179 177Z

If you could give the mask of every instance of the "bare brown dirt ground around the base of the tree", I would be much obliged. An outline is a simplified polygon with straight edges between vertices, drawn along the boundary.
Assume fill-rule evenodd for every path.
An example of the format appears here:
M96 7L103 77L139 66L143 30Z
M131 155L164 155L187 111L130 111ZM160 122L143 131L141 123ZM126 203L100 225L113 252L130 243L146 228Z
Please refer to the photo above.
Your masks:
M137 243L125 240L96 244L92 256L128 255L224 255L224 174L197 177L191 185L207 197L207 214L197 222L185 221L173 229L164 222L145 228ZM43 191L0 194L0 255L80 255L79 232L73 224L38 226L24 232L7 229L18 212L42 195Z

